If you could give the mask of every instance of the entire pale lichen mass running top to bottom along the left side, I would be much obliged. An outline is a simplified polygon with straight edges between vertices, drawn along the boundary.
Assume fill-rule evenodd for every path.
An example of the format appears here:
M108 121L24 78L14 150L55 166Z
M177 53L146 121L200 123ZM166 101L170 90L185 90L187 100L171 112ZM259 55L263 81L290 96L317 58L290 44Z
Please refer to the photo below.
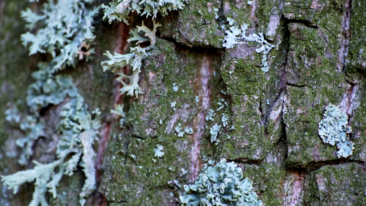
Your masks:
M33 154L34 141L45 135L46 123L41 117L42 108L64 103L59 114L60 121L54 129L58 136L57 159L48 164L33 161L36 165L33 169L1 176L4 184L13 189L14 193L18 192L21 184L35 181L33 199L29 206L48 206L47 191L56 198L56 187L63 174L71 176L78 166L83 168L86 177L79 194L80 204L84 205L85 198L95 190L95 152L92 144L97 139L100 128L100 112L98 109L91 113L88 111L70 76L55 74L66 66L75 66L84 57L87 60L93 53L93 49L89 49L95 37L92 22L98 10L86 8L85 4L91 2L46 1L41 14L30 9L22 12L30 30L35 29L36 25L37 28L41 27L35 34L27 32L22 35L24 45L31 43L30 55L47 52L53 59L48 63L39 63L39 70L32 74L36 82L29 85L27 90L26 105L29 114L19 114L16 105L5 111L6 119L19 124L25 133L25 137L16 141L22 147L19 158L21 165L26 165Z

